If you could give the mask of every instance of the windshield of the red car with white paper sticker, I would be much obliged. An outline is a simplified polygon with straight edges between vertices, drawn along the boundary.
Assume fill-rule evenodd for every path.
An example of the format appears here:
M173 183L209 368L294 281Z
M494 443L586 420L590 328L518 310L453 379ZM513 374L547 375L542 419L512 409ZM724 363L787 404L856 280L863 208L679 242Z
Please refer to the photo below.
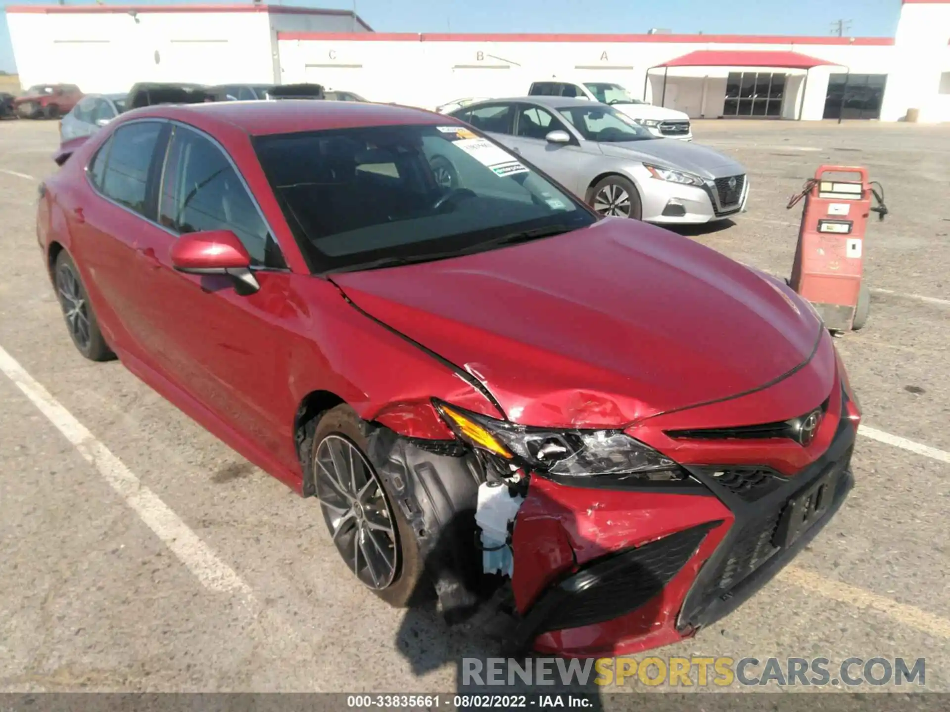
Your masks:
M517 156L459 125L371 126L254 143L318 273L483 252L597 219Z

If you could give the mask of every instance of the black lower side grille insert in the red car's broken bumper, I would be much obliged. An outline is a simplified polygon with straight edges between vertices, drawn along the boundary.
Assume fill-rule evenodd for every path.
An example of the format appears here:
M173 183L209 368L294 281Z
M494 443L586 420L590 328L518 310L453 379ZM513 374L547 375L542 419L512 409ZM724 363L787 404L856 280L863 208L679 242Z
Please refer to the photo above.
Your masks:
M718 524L685 529L596 560L547 594L555 596L554 606L543 600L537 604L546 610L536 634L603 623L638 609L673 580Z

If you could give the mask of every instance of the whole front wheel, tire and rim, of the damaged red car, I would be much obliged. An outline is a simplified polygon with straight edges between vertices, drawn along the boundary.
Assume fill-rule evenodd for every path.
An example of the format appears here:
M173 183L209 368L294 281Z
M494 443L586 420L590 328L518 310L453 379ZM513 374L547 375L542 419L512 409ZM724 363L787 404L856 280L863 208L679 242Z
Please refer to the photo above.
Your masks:
M311 474L333 545L360 583L405 608L423 576L409 522L367 457L364 422L337 405L314 428Z

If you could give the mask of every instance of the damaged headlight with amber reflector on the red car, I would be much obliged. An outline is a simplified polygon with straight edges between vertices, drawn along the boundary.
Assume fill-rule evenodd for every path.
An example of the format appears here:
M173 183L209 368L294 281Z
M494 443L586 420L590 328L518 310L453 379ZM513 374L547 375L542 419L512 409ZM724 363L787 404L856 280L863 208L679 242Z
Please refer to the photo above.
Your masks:
M564 478L610 475L659 482L689 477L672 459L620 430L548 430L433 403L459 440L516 467Z

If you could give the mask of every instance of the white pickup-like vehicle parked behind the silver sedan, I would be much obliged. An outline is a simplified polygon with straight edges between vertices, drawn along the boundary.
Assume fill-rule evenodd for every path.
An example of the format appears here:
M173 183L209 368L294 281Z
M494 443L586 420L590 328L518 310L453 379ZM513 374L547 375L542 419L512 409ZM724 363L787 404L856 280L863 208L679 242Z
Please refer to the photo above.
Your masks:
M531 84L528 95L533 97L571 97L573 99L588 99L592 102L606 103L613 106L621 114L629 116L657 138L693 141L693 128L687 114L664 106L654 106L642 99L636 99L620 84L551 80Z

